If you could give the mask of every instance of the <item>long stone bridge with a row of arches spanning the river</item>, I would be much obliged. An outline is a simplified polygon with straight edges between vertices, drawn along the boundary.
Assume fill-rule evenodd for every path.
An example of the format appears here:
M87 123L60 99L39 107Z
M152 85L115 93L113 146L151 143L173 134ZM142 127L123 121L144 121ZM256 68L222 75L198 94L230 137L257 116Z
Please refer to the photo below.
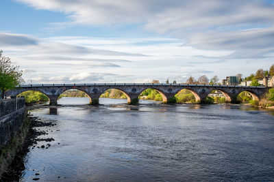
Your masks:
M128 104L138 102L138 96L145 89L155 89L162 97L163 102L170 103L176 93L186 89L195 95L196 102L203 102L208 94L213 91L221 91L227 102L235 102L236 97L242 91L247 91L253 100L260 98L268 91L267 87L248 87L232 85L196 85L196 84L153 84L153 83L94 83L94 84L53 84L53 85L19 85L5 93L5 97L15 96L24 91L40 91L49 97L49 104L58 104L58 97L64 91L77 89L84 91L90 97L90 104L99 104L100 95L108 89L119 89L127 96Z

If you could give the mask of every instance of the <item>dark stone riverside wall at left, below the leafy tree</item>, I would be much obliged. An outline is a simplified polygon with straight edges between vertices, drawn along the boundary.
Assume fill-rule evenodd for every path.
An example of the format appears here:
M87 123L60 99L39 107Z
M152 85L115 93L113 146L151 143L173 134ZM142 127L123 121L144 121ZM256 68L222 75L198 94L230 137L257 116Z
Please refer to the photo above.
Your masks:
M25 117L24 98L0 100L0 151L21 129Z

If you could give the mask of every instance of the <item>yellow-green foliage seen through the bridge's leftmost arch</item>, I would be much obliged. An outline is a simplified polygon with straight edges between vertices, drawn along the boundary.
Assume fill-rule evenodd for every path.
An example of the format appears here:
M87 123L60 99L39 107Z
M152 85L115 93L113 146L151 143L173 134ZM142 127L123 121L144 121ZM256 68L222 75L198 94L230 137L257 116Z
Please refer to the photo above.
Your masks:
M25 97L25 103L35 103L35 102L47 102L49 98L44 94L40 93L40 91L24 91L18 96Z

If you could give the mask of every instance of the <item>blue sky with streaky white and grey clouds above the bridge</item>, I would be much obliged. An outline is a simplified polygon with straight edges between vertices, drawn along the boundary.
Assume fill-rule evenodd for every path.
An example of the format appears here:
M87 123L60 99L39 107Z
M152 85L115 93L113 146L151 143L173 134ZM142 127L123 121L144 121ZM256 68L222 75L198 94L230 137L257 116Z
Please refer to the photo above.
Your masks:
M185 82L274 64L274 0L1 0L25 83Z

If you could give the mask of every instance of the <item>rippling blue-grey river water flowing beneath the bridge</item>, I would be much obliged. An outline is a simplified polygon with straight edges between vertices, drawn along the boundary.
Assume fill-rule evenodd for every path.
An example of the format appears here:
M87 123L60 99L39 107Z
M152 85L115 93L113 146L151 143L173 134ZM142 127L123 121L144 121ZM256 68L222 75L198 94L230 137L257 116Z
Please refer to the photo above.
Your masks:
M239 105L164 105L63 97L32 110L56 123L21 181L274 181L274 113ZM38 146L49 142L39 142ZM59 144L58 144L59 143ZM35 173L39 173L38 176Z

